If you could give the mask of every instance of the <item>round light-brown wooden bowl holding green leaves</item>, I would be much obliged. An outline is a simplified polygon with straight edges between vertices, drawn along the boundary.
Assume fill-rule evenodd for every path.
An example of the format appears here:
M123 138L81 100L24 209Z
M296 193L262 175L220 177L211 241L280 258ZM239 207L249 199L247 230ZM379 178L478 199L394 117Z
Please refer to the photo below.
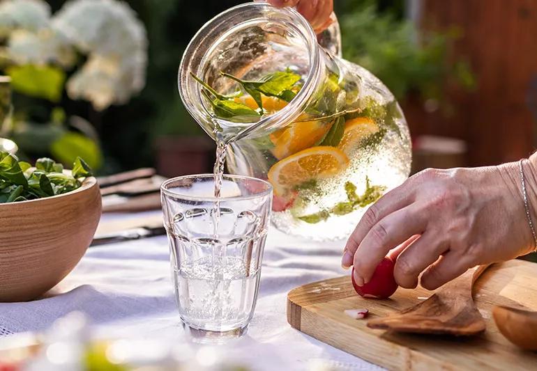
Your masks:
M74 191L0 204L0 301L40 297L73 270L100 219L94 177Z

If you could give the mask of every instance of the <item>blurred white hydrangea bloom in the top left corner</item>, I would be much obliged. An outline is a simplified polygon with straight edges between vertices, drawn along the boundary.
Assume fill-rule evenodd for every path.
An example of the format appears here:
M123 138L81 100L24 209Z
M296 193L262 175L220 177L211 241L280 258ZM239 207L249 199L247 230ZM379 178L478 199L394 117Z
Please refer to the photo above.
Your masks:
M48 26L50 6L41 0L3 0L0 2L0 35L13 29L39 31Z

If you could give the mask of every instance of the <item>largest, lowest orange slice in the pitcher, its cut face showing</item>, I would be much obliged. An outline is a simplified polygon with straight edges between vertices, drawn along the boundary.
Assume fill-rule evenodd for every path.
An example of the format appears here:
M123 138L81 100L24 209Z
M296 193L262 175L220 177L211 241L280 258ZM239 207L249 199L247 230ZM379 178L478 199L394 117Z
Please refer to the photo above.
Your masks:
M283 195L292 187L313 179L326 179L340 173L349 158L342 150L322 145L308 148L276 162L269 170L269 182L275 194Z

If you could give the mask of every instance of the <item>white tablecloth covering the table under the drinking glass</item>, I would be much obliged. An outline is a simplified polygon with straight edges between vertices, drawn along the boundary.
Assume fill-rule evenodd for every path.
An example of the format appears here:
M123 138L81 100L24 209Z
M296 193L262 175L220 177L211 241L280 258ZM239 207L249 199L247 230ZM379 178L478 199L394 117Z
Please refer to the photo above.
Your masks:
M128 217L132 216L103 218ZM248 334L221 345L221 349L253 370L304 370L312 361L326 361L342 370L379 369L287 324L287 292L298 285L345 274L340 268L341 251L342 243L305 242L270 230L259 299ZM75 270L45 299L0 303L0 336L47 329L73 310L84 311L100 336L188 341L169 277L165 236L89 248Z

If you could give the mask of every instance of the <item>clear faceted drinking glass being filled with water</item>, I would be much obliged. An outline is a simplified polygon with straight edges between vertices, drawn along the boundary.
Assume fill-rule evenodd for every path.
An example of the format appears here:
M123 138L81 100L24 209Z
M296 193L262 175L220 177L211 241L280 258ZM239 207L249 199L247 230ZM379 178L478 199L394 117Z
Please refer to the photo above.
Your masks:
M184 328L200 341L239 337L252 319L272 203L269 182L212 174L162 184L172 279Z

